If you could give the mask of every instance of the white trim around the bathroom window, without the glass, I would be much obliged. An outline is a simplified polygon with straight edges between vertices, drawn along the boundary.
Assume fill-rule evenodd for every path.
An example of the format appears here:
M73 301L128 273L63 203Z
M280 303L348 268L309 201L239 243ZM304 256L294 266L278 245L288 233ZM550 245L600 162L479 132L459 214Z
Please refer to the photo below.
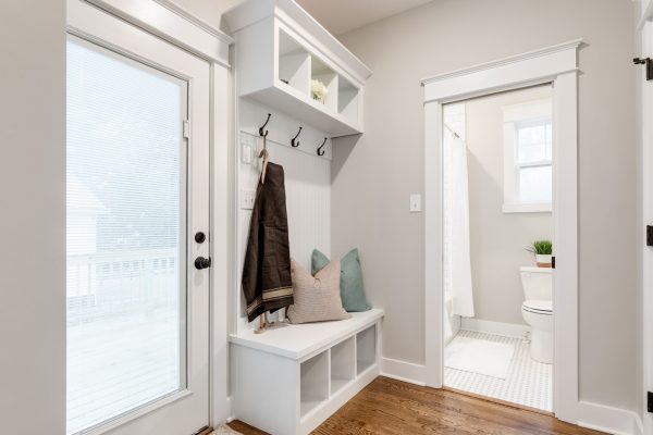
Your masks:
M531 121L553 120L553 101L549 98L526 103L504 105L504 213L546 213L552 212L552 201L522 202L519 200L519 170L523 167L553 166L551 160L529 163L517 162L516 133L519 124Z

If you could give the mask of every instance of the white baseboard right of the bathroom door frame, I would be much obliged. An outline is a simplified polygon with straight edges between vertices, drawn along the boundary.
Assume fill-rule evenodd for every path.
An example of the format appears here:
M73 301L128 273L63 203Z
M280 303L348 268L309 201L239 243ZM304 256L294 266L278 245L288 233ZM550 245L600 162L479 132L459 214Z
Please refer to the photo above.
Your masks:
M640 417L632 411L580 401L578 425L615 435L644 435Z

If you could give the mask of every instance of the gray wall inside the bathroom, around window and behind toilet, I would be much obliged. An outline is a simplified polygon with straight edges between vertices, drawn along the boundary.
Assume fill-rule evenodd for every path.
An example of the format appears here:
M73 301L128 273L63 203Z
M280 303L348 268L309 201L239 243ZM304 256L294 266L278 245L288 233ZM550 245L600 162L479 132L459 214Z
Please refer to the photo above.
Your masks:
M504 213L502 107L551 97L551 87L523 89L465 103L469 236L475 318L525 324L519 268L534 265L523 248L553 239L551 213Z

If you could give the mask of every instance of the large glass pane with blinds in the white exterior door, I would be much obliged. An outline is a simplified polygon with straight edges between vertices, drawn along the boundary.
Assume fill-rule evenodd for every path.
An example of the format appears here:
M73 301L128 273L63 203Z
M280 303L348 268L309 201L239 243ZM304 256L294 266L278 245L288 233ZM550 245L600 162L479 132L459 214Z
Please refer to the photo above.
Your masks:
M67 44L67 433L185 384L186 84Z

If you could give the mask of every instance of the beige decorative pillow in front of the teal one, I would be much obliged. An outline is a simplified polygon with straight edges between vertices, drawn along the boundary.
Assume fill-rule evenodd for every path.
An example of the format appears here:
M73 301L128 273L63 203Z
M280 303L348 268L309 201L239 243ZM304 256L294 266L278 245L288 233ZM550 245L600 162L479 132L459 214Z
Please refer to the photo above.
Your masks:
M288 307L291 323L349 319L340 297L340 261L333 261L315 277L291 259L295 302Z

